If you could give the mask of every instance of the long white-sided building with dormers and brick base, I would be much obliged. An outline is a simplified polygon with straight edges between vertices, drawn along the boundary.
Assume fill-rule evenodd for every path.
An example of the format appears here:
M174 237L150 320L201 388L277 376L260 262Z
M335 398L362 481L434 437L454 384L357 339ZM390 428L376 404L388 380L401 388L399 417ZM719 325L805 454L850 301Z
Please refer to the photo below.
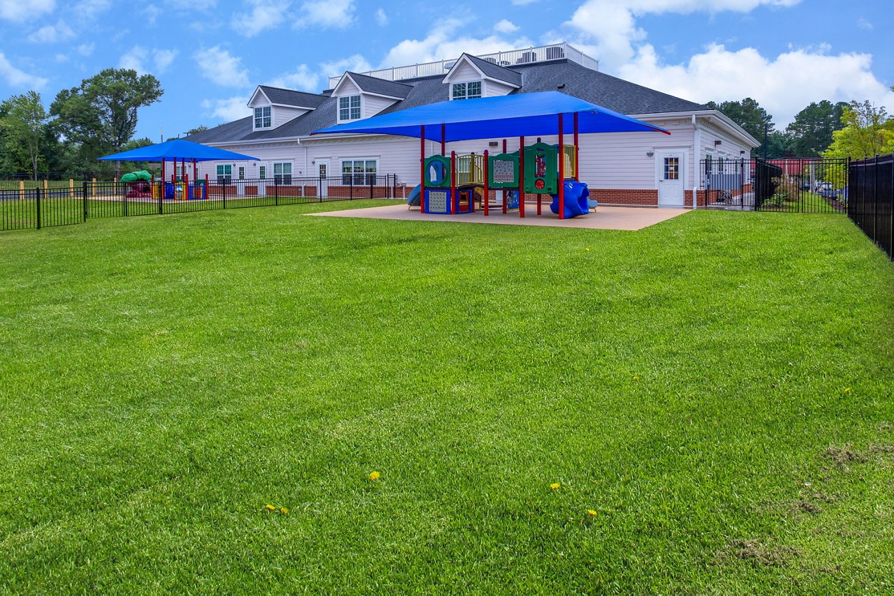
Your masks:
M384 135L319 135L315 130L417 105L475 97L558 90L669 130L580 135L579 179L601 205L691 206L703 189L702 160L748 159L759 145L745 130L705 105L620 80L568 44L401 66L345 72L319 94L259 86L252 115L204 130L189 140L255 155L257 162L201 164L212 180L300 178L349 181L393 174L408 186L419 179L419 140ZM527 139L526 139L527 140ZM533 141L533 139L531 139ZM507 139L509 151L518 139ZM544 137L557 142L555 137ZM496 142L497 146L491 145ZM449 143L447 151L482 153L502 139ZM440 153L431 143L427 155ZM301 182L307 184L308 181ZM699 194L699 204L704 196Z

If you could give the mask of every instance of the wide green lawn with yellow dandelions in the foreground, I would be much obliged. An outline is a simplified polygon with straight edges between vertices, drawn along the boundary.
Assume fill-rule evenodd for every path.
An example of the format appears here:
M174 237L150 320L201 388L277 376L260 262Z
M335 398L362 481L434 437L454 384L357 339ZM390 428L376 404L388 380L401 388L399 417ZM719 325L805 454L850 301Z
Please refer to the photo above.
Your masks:
M0 592L894 590L847 218L370 205L0 235Z

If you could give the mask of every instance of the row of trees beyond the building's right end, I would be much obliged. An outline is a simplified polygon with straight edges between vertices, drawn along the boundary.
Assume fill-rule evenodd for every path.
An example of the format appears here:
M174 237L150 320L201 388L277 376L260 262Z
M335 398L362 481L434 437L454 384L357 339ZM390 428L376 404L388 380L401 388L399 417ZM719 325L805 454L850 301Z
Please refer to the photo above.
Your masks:
M894 88L891 88L894 90ZM752 157L850 157L864 159L894 153L894 118L870 101L812 102L784 130L755 99L709 101L717 110L762 143Z

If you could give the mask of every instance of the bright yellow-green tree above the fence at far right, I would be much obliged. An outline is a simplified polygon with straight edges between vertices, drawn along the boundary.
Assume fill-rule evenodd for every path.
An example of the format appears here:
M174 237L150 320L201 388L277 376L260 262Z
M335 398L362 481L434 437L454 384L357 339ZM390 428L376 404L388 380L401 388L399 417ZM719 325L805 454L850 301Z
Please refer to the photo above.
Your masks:
M823 157L864 159L894 152L894 118L884 107L869 100L852 101L841 114L841 130L832 132L832 142Z

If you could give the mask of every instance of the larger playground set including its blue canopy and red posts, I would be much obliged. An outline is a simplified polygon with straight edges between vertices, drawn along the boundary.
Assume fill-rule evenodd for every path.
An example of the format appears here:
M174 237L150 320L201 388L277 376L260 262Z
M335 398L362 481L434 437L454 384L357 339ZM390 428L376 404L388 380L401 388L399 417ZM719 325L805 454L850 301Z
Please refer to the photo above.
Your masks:
M525 217L526 203L536 201L541 214L546 196L559 219L588 214L586 183L579 180L579 134L595 132L662 132L667 130L613 112L600 105L558 91L524 93L446 101L373 116L316 130L312 134L370 133L419 139L420 184L408 199L425 214L468 214L476 203L487 215L493 208L503 213L517 210ZM526 146L526 135L558 133L558 143ZM573 136L571 145L566 135ZM507 152L506 137L518 137L519 151ZM502 153L447 155L452 141L503 138ZM426 139L440 141L440 155L426 156ZM492 143L493 144L493 143ZM492 191L494 193L492 199ZM496 192L501 201L496 202Z

